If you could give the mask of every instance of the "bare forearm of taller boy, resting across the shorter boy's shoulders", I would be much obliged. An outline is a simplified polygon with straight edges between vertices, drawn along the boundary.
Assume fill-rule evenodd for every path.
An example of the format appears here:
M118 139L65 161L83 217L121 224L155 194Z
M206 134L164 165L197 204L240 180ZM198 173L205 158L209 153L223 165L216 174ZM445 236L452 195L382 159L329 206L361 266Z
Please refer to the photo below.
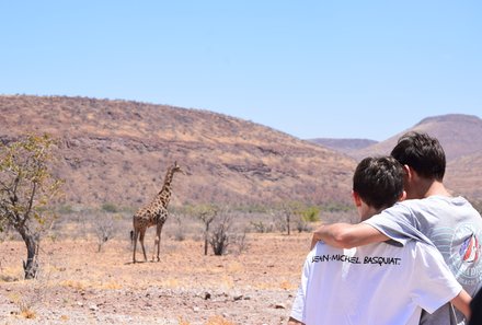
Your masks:
M352 248L388 240L388 236L369 224L333 223L322 225L314 231L311 248L318 241L334 247Z

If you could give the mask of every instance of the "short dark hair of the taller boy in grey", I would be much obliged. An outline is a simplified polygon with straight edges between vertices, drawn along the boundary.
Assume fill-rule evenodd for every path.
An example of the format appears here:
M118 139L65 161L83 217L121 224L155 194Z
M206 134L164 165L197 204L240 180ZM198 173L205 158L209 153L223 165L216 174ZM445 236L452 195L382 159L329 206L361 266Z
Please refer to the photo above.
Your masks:
M436 138L423 132L408 132L400 137L391 155L402 165L409 165L420 176L439 182L445 175L445 152Z

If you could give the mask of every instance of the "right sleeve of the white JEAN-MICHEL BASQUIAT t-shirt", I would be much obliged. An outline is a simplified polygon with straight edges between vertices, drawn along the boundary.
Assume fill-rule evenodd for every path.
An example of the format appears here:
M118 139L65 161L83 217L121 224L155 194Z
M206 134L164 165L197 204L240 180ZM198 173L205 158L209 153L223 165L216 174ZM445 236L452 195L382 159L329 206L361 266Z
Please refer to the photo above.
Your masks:
M437 248L413 242L412 300L428 313L452 300L462 287Z

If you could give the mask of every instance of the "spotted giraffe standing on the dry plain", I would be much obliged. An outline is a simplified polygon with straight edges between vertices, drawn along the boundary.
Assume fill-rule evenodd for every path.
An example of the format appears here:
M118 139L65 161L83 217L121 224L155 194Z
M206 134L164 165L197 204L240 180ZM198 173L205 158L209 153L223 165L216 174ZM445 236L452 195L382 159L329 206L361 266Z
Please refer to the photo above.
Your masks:
M144 259L147 260L146 248L144 246L144 236L146 234L146 230L152 225L156 225L154 249L157 246L158 248L157 258L158 262L160 260L159 249L161 245L161 231L165 220L168 220L168 205L169 205L169 200L171 199L171 183L174 173L176 172L184 174L184 171L177 165L177 162L174 162L174 164L168 169L168 172L165 173L165 177L164 177L164 184L162 185L162 189L158 193L156 198L146 207L140 208L133 217L133 225L134 225L133 263L136 263L137 239L139 239L140 246L142 247ZM152 254L152 260L154 260L153 254Z

